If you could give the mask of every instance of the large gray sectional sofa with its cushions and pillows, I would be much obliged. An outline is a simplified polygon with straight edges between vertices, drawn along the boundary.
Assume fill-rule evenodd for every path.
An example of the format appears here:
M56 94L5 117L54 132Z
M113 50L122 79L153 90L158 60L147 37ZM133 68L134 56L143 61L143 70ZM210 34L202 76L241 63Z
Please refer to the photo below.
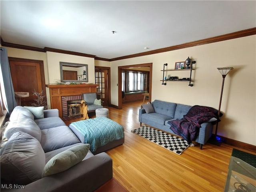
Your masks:
M1 191L90 192L112 178L112 159L105 152L92 154L57 109L35 116L21 106L10 115L1 148Z

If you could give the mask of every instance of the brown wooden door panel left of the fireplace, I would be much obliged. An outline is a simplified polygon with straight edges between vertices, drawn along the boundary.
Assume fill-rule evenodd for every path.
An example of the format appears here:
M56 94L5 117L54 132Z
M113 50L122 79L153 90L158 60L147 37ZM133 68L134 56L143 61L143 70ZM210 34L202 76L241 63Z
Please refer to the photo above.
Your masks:
M33 92L46 95L43 61L9 57L9 64L14 92L29 92L29 97L21 98L21 106L35 103Z

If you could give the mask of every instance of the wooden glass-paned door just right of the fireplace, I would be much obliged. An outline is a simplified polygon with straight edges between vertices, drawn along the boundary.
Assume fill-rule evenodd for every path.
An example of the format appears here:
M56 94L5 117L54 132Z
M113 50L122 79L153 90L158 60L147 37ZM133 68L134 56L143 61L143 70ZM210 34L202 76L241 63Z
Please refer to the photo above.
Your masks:
M104 106L108 106L110 104L109 70L110 69L104 69L103 67L101 67L101 69L95 68L95 83L99 84L99 87L97 88L97 93L100 96L100 99L104 101Z

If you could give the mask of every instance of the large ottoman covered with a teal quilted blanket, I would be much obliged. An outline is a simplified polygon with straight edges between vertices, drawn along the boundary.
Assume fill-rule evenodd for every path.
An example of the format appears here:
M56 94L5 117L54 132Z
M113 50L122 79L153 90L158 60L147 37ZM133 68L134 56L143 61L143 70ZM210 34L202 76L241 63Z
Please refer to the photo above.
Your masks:
M94 155L124 143L124 128L103 116L72 122L69 127L82 143L90 144Z

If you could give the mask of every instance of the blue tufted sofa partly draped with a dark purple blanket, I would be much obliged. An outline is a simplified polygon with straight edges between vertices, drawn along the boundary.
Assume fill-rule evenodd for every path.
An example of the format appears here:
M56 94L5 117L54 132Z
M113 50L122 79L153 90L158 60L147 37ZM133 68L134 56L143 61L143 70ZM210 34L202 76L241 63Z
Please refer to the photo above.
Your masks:
M139 110L140 126L142 123L144 123L148 126L163 130L164 132L174 134L174 132L170 129L170 124L168 124L168 121L183 118L183 116L188 113L192 106L154 100L152 102L152 107L154 108L154 112L151 113L146 113L144 108ZM202 145L204 145L212 136L213 124L216 121L216 118L212 118L208 122L201 124L198 135L194 140L200 144L200 149L202 149Z

